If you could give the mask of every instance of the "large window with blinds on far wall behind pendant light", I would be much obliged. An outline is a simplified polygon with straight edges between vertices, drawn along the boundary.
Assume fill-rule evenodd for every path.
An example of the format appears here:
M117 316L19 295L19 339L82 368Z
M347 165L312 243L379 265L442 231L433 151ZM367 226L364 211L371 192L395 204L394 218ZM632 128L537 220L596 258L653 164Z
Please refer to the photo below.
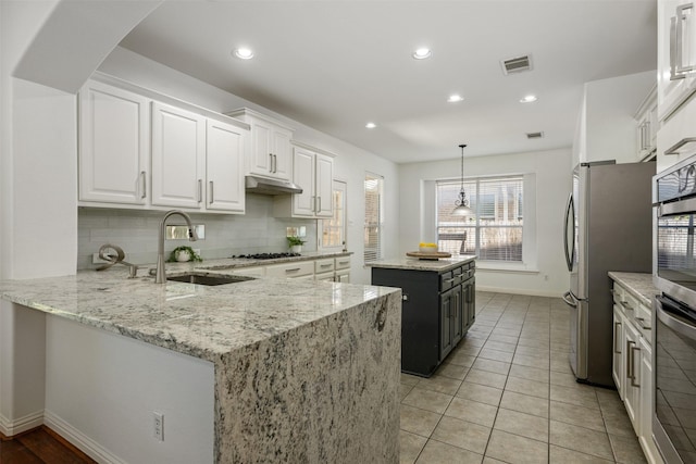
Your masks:
M461 181L437 183L437 244L452 254L476 254L483 261L522 262L523 178L464 180L475 216L455 216Z

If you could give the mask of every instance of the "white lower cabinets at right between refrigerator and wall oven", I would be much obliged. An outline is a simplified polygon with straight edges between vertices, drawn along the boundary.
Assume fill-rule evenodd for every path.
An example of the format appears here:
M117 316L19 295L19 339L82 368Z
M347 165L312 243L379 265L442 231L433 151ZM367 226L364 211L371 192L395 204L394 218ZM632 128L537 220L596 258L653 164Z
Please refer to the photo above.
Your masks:
M612 376L648 463L662 459L652 440L651 312L619 283L613 284Z

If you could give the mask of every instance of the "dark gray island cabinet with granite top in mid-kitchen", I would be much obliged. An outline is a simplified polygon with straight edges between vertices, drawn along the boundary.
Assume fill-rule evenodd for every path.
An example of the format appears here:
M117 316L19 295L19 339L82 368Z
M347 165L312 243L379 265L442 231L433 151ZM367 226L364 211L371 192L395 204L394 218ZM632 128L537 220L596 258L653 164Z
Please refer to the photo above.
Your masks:
M372 285L398 287L401 372L430 377L476 318L475 256L370 263Z

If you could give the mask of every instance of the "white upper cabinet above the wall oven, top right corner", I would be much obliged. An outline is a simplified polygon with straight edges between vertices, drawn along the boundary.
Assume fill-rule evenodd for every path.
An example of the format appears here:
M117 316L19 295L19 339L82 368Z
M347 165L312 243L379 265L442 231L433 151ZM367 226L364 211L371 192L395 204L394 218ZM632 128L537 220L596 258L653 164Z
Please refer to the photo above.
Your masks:
M696 11L684 0L658 1L658 120L696 90Z

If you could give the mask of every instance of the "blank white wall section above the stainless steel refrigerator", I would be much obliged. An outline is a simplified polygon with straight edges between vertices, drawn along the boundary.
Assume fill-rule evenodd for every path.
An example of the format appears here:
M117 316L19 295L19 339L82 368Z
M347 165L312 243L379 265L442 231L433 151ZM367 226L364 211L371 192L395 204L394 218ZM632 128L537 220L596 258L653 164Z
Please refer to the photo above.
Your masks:
M657 80L655 71L593 80L584 86L571 166L637 159L635 112Z

